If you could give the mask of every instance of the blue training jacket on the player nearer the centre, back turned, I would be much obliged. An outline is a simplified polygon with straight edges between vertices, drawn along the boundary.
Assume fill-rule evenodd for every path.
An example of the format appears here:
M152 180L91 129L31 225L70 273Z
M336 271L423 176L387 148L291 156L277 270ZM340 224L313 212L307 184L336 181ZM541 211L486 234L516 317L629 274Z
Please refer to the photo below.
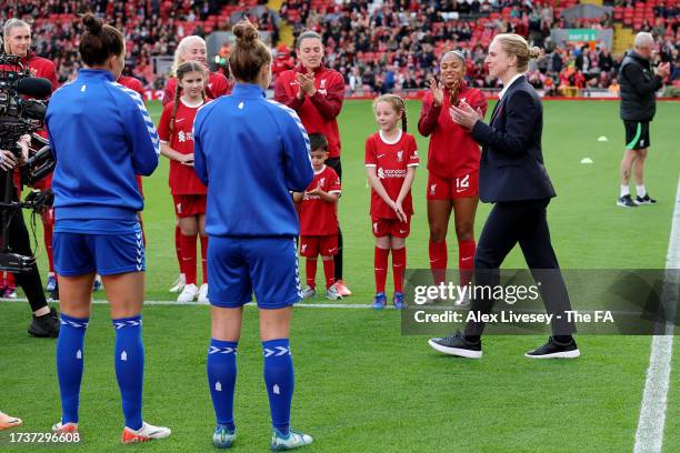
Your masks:
M297 236L300 221L289 191L313 178L309 138L298 114L238 83L201 107L193 122L198 177L208 187L211 236Z

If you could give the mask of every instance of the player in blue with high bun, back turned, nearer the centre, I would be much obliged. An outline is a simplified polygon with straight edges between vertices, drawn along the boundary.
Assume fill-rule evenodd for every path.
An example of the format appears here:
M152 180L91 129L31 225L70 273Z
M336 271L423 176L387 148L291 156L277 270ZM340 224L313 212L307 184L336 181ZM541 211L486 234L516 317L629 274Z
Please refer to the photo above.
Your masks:
M294 373L290 349L292 305L301 299L296 239L298 213L290 191L313 178L307 132L298 114L264 99L271 53L248 21L233 27L229 67L231 95L199 110L193 123L194 168L208 187L206 231L212 339L208 382L217 419L212 441L236 440L236 354L243 304L254 293L271 410L271 450L308 445L311 436L290 429Z

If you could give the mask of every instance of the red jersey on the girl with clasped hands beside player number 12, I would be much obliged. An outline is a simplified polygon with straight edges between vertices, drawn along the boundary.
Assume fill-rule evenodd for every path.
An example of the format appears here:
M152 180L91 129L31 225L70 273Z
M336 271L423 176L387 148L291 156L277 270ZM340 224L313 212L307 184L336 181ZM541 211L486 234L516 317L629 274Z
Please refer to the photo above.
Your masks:
M366 140L364 164L376 167L376 174L388 195L397 200L406 179L407 169L420 164L416 139L410 133L399 131L399 137L393 142L389 142L383 139L381 132L378 132ZM413 213L411 191L403 199L402 207L407 214ZM394 211L387 205L376 190L371 190L371 215L381 219L397 219Z

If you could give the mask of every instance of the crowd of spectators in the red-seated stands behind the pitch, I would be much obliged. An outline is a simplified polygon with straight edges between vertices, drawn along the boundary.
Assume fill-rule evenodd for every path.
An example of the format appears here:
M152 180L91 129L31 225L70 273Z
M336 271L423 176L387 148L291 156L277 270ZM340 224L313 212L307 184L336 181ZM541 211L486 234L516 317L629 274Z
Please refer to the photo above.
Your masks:
M424 89L437 76L442 52L460 49L468 59L468 81L481 88L498 87L483 67L486 49L499 32L516 32L546 50L532 64L529 78L544 91L560 87L609 89L616 82L622 56L612 56L598 43L553 42L554 28L608 29L622 20L638 30L652 32L661 61L678 61L679 6L676 0L618 0L613 17L569 20L562 14L577 0L284 0L281 18L297 37L311 29L323 37L326 63L340 71L354 92L389 92ZM61 82L79 67L78 37L81 24L76 13L86 8L123 31L128 71L149 89L160 89L163 77L154 73L152 58L171 56L183 36L206 36L229 30L232 13L264 0L9 0L0 7L0 23L18 17L33 27L37 54L54 61ZM631 16L632 14L632 16ZM250 16L260 30L278 27L269 11ZM220 53L228 52L228 49ZM293 64L294 53L276 48L274 72ZM677 70L676 70L677 71Z

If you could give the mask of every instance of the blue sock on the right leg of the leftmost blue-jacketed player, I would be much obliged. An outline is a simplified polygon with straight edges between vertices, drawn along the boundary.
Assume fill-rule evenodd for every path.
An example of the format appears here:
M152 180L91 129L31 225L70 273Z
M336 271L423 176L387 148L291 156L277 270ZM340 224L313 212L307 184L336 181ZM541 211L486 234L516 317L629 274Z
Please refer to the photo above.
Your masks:
M144 379L144 345L141 340L141 314L113 320L116 328L116 378L122 400L126 426L142 425L141 401Z

